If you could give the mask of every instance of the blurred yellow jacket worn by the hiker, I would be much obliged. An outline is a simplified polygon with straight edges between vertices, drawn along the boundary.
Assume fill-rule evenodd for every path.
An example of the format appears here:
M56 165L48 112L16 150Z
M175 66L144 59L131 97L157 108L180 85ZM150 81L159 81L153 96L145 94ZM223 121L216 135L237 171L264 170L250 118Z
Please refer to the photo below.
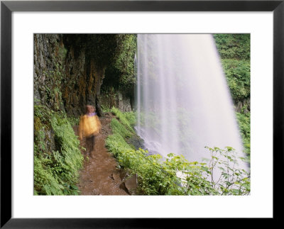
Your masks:
M79 137L88 137L90 135L98 135L101 130L102 124L97 115L88 116L84 115L80 118L79 123Z

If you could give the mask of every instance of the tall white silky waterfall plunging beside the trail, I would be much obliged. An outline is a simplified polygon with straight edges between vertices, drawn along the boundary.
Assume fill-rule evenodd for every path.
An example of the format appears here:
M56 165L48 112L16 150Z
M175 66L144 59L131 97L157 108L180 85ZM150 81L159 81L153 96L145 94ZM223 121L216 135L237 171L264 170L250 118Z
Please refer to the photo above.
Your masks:
M208 147L243 152L231 94L212 35L138 34L136 131L150 154L187 160ZM243 156L243 155L241 155Z

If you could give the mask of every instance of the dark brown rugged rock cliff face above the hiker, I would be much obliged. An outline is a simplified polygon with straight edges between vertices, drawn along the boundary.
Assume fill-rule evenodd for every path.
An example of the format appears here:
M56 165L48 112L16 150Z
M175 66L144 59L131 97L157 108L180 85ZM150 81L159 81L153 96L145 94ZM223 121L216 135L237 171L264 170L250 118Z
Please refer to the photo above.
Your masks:
M99 116L102 115L101 101L111 103L100 96L104 71L111 57L104 57L104 50L97 48L99 39L104 38L99 35L34 35L35 104L44 104L55 111L65 110L70 116L80 116L85 105L92 104ZM114 105L124 111L131 110L129 98L120 96L115 101Z

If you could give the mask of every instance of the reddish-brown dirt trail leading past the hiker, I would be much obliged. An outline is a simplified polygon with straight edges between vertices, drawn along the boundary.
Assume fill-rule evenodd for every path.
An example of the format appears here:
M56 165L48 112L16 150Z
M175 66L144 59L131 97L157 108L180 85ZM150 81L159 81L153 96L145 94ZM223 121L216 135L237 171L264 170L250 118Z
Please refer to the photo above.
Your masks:
M95 147L89 161L85 160L84 167L80 171L80 179L77 186L81 195L129 195L127 189L121 184L121 172L116 169L117 162L105 147L105 139L111 134L110 122L113 116L106 113L100 118L102 130L95 138ZM74 127L78 134L78 126ZM85 140L82 146L86 148ZM87 152L89 149L87 149ZM86 158L86 152L82 152Z

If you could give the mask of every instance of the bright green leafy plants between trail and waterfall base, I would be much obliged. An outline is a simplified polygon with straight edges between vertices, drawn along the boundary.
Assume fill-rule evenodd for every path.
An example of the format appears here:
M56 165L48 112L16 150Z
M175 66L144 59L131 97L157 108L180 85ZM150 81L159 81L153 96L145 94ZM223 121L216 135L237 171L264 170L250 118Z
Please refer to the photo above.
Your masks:
M119 116L125 113L114 110ZM129 123L124 118L111 121L114 132L106 145L129 174L137 174L138 191L143 195L247 195L250 193L249 173L237 167L239 158L231 147L209 148L206 163L188 162L182 155L148 155L143 149L134 150L127 143ZM124 120L124 123L121 122ZM219 177L214 177L219 171ZM216 179L216 180L215 180Z

